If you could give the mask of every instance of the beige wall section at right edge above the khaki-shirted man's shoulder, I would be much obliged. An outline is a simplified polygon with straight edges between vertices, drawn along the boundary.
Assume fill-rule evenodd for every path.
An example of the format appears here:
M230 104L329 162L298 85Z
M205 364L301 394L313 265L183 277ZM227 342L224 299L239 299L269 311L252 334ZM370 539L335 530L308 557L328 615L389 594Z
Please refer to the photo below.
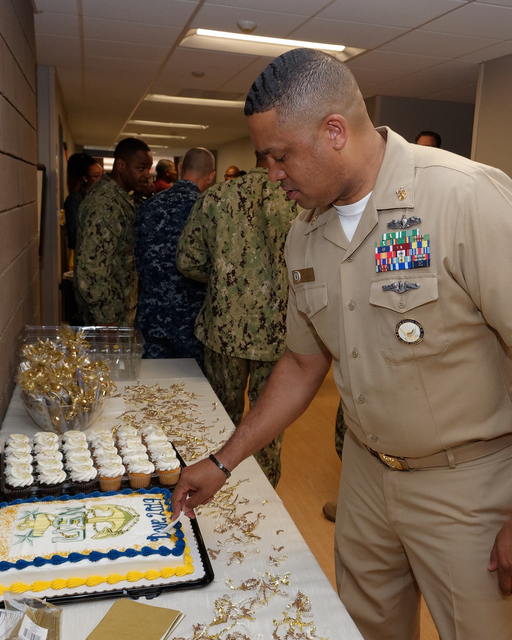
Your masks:
M480 67L471 157L512 177L512 56Z

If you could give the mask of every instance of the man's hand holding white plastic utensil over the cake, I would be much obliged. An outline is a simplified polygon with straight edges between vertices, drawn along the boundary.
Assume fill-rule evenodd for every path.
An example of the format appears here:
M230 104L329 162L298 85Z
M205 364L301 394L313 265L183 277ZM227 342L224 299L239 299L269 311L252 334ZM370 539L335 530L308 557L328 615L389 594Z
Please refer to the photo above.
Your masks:
M209 458L190 467L184 467L179 483L172 493L173 513L185 511L189 518L195 518L192 509L210 502L226 481L226 474Z

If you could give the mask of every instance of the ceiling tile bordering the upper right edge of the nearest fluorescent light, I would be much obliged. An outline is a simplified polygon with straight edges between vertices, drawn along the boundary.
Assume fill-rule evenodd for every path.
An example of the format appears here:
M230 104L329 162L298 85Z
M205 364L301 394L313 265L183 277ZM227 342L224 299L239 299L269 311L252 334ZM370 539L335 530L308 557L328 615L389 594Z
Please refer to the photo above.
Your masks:
M328 42L329 44L344 44L348 47L373 49L392 40L392 38L397 38L406 31L407 29L398 27L381 27L376 24L362 24L362 22L313 18L300 29L293 31L291 37L309 42Z

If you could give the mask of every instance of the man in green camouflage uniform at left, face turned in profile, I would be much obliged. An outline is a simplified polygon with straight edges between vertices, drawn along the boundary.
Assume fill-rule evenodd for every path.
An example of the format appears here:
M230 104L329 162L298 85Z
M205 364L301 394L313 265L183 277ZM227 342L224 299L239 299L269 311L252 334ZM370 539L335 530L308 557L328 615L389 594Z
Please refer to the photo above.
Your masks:
M74 291L84 324L133 326L137 272L129 192L148 181L152 157L137 138L120 141L114 156L111 174L97 180L80 205Z

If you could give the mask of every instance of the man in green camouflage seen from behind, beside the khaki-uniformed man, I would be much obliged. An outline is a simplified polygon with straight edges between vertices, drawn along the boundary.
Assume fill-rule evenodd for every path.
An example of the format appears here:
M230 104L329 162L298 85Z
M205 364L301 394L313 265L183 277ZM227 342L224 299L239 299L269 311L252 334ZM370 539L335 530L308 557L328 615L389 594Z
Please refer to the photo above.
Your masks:
M178 244L178 269L208 284L195 335L205 346L209 383L236 426L247 381L252 406L284 353L284 243L296 215L296 205L268 179L260 156L255 169L198 198ZM282 438L255 455L273 486L281 472Z

